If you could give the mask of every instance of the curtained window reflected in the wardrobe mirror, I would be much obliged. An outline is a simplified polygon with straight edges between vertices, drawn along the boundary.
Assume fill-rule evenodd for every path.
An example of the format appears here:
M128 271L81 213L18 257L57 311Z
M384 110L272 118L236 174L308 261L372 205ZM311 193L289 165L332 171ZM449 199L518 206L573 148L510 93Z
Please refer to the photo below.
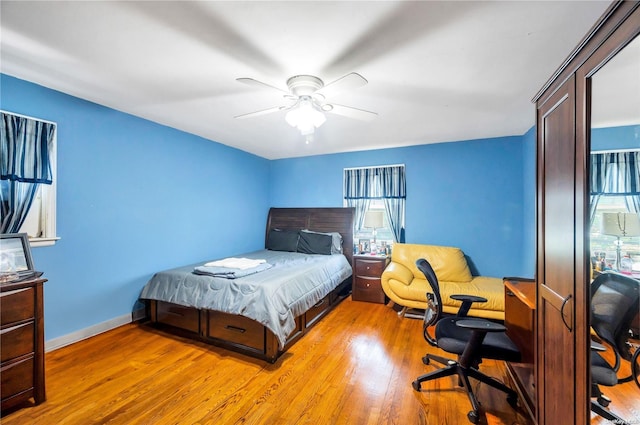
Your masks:
M592 265L640 272L640 152L592 153L590 167Z

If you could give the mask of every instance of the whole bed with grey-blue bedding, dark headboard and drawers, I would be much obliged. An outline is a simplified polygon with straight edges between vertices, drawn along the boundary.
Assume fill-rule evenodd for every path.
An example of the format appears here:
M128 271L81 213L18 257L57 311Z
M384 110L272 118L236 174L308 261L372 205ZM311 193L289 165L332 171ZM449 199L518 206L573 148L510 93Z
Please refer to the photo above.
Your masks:
M264 250L156 273L140 296L148 323L275 362L349 295L353 214L353 208L271 208ZM287 248L294 234L295 251L302 252Z

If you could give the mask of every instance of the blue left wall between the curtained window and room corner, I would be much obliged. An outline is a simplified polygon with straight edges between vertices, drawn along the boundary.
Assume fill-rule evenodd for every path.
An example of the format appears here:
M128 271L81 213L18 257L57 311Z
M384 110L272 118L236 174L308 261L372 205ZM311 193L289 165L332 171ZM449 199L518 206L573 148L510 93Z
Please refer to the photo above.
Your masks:
M3 110L58 123L61 239L32 249L47 342L126 318L155 271L264 246L268 160L0 78Z

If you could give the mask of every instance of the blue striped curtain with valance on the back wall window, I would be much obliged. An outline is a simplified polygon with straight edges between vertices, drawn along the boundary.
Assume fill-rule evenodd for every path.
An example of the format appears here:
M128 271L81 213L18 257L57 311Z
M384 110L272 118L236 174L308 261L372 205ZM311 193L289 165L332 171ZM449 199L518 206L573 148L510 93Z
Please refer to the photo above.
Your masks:
M404 165L344 170L344 198L348 206L356 207L354 231L362 228L371 199L383 199L394 241L404 242Z

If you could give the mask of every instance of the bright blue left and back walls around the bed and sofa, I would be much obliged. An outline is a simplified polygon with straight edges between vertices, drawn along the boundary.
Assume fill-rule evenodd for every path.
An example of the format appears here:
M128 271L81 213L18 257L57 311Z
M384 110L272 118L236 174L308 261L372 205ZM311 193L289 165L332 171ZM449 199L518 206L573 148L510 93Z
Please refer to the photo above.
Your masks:
M158 270L262 248L270 206L342 206L347 167L406 165L407 242L459 246L477 274L533 276L534 129L269 161L0 78L2 109L58 123L62 239L33 249L47 340L130 313Z

